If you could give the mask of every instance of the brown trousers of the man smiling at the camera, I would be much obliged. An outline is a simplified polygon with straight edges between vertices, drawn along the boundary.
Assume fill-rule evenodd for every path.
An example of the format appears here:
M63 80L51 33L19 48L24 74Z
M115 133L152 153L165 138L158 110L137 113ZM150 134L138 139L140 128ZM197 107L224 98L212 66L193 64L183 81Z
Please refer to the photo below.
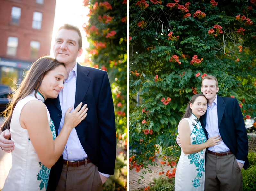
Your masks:
M242 191L242 173L234 154L206 154L205 191Z

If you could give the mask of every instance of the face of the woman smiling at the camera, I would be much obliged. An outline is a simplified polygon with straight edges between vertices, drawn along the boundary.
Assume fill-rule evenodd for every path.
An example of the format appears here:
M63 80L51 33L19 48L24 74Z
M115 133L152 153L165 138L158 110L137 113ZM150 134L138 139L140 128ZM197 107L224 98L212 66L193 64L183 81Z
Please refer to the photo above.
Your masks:
M207 100L204 96L199 96L196 98L194 103L190 103L190 108L192 113L199 119L200 116L204 115L207 109Z

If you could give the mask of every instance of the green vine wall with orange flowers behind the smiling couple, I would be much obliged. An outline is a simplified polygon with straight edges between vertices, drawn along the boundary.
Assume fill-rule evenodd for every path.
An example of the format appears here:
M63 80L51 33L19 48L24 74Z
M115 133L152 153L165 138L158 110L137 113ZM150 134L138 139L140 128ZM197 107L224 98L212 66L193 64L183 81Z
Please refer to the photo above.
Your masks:
M255 9L255 0L129 0L130 169L149 170L156 152L178 159L177 126L204 75L255 117Z

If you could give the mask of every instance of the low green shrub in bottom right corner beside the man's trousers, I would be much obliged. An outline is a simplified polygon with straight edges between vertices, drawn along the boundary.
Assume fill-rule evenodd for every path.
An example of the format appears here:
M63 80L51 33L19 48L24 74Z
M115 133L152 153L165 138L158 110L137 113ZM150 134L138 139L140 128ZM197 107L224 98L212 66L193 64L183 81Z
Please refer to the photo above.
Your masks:
M247 170L242 169L243 191L256 190L256 166L250 166Z

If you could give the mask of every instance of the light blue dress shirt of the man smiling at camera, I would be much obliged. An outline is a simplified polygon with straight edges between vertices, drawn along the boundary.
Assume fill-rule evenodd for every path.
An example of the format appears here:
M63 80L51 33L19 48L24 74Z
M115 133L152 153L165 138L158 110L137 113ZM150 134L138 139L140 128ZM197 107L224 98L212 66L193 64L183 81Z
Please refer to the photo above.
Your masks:
M218 113L217 113L217 95L211 104L211 107L207 104L207 110L206 110L206 125L205 129L207 131L208 137L214 137L214 136L220 136L219 133L219 126L218 126ZM220 136L221 137L221 136ZM227 145L220 141L220 144L214 145L211 147L208 147L209 151L213 152L226 152L230 149L227 147ZM245 161L237 160L238 162L241 162L244 164Z

